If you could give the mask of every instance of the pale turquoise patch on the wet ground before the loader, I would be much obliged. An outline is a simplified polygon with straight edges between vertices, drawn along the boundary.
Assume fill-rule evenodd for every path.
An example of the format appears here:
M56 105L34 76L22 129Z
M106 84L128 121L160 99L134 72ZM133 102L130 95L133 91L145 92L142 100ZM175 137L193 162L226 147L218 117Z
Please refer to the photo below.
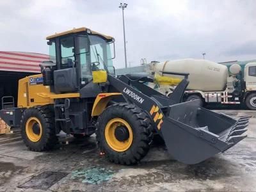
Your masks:
M106 168L91 167L72 172L71 179L78 179L89 184L100 184L113 177L113 171Z

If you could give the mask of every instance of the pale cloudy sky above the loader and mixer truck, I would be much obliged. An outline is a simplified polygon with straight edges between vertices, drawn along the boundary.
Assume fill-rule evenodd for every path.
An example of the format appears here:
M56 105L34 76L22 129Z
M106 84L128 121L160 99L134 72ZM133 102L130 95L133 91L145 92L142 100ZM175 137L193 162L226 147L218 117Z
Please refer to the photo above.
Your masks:
M255 0L126 0L127 63L205 58L256 59ZM122 10L116 0L2 0L0 51L47 54L45 36L86 26L115 37L124 67Z

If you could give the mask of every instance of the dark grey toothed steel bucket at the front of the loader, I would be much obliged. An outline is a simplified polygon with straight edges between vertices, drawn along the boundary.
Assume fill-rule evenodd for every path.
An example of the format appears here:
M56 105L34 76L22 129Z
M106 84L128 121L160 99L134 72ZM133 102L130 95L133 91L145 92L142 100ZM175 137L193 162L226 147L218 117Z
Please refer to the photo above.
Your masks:
M168 152L182 163L200 163L246 138L247 116L234 120L199 104L192 100L169 106L161 127Z

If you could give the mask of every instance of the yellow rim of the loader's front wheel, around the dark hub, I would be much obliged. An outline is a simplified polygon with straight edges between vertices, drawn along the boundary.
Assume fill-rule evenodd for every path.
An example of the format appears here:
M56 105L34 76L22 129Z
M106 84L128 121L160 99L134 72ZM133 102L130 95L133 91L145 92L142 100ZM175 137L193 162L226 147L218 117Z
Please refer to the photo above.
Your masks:
M118 126L124 126L129 131L129 138L125 141L117 140L115 136L115 130ZM131 126L122 118L111 119L105 128L106 141L113 150L117 152L124 152L132 145L132 129Z

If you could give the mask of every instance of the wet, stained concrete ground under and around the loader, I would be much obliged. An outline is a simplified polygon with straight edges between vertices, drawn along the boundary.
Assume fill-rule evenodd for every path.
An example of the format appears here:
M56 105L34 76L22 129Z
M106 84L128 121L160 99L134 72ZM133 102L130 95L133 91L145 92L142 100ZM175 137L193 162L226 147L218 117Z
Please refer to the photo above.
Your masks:
M49 152L29 151L19 133L0 136L0 191L255 191L255 112L218 112L252 116L248 138L195 165L172 160L164 146L152 146L138 165L120 166L99 155L93 136Z

